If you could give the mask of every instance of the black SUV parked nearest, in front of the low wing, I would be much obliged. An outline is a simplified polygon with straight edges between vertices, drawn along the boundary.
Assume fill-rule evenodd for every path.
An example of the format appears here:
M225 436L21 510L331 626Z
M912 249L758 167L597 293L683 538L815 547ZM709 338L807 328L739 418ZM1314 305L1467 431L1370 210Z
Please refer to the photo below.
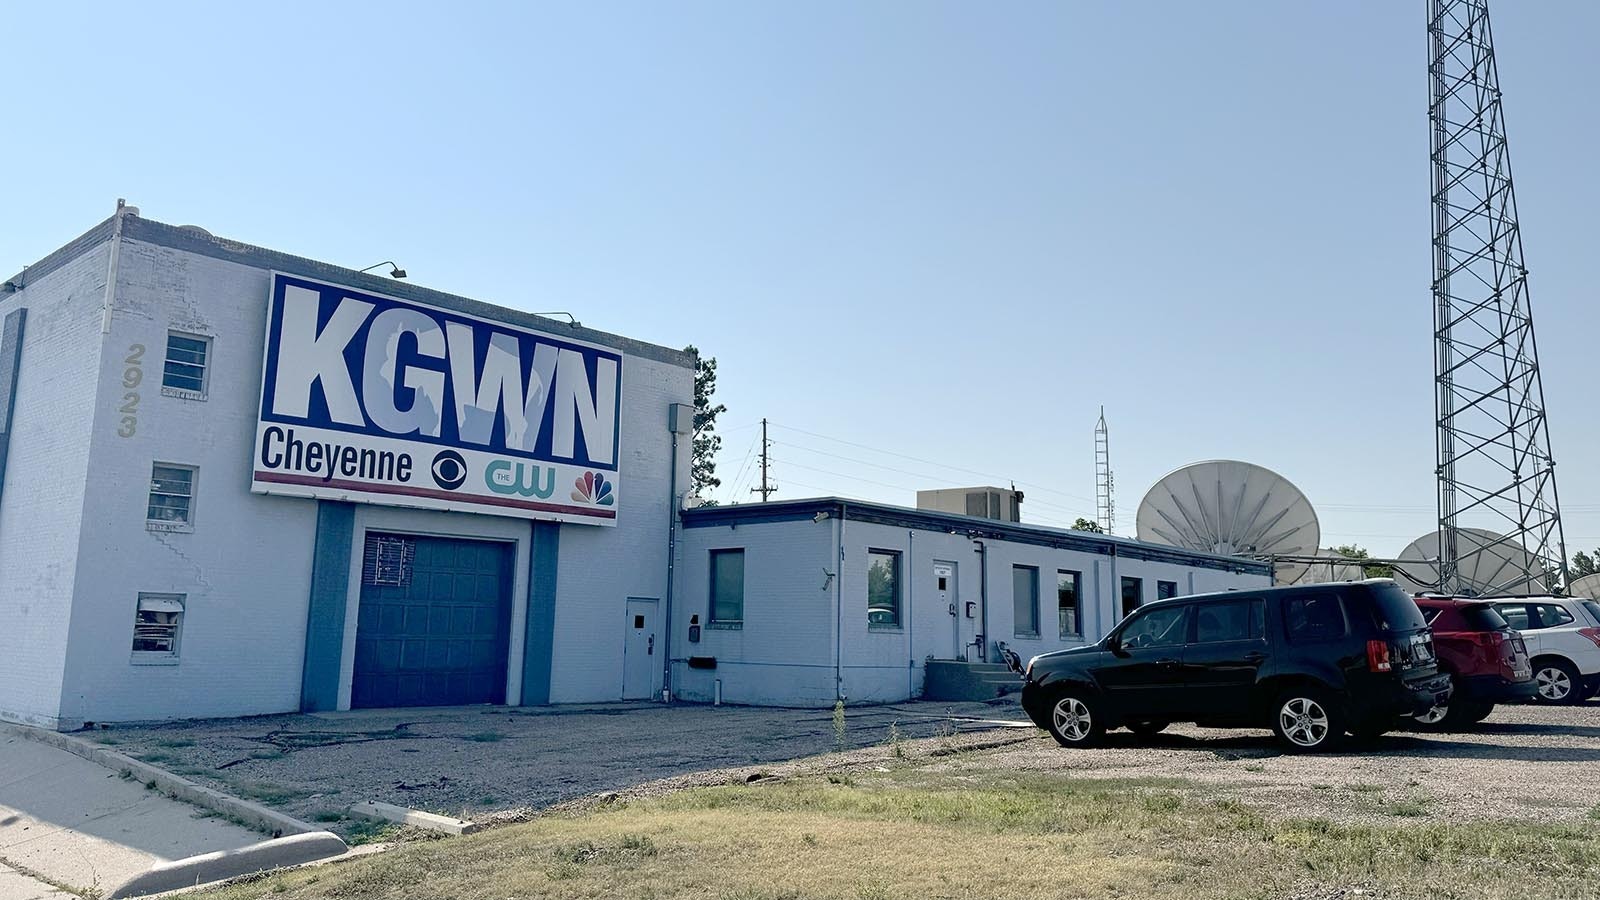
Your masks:
M1034 657L1024 677L1022 708L1062 746L1197 722L1323 749L1450 697L1422 613L1387 578L1158 601L1099 644Z

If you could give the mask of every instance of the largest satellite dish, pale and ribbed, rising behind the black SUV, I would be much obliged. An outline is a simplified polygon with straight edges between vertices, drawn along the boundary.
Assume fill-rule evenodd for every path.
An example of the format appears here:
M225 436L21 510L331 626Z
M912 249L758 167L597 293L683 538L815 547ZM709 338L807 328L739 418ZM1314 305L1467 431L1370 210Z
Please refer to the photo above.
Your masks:
M1310 556L1322 527L1298 487L1272 469L1237 460L1194 463L1155 482L1134 517L1141 541L1222 556ZM1293 585L1299 562L1280 562L1274 580Z

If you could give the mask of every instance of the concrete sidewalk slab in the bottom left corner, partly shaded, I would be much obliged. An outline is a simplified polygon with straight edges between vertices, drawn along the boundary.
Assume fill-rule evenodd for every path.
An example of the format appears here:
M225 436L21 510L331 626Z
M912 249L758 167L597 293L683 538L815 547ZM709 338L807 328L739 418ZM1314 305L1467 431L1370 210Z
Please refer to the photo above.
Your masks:
M104 894L155 863L264 838L64 749L0 733L0 900L66 897L11 866Z

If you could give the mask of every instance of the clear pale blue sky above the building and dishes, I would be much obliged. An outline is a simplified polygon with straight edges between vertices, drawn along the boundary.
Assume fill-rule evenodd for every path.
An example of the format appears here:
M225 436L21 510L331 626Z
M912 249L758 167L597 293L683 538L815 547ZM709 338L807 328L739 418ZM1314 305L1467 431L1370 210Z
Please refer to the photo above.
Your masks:
M0 271L144 216L718 364L712 496L1210 458L1435 527L1424 3L13 3ZM1600 546L1600 5L1496 3L1570 549ZM21 38L26 35L26 38ZM626 436L624 436L626 439Z

